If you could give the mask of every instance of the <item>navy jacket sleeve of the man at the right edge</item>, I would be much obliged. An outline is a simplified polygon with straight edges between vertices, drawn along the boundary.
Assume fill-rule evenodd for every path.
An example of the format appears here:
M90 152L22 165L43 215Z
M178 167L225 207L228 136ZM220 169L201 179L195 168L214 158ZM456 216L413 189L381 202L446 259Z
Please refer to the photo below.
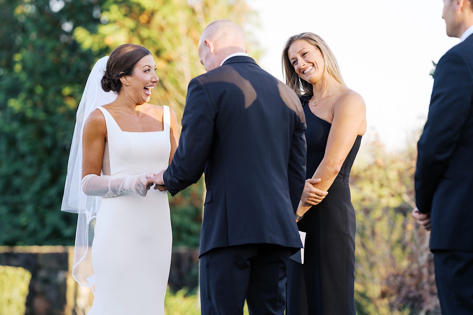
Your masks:
M430 212L434 193L468 117L473 90L471 71L454 51L447 52L435 70L429 115L417 143L415 193L421 213Z

